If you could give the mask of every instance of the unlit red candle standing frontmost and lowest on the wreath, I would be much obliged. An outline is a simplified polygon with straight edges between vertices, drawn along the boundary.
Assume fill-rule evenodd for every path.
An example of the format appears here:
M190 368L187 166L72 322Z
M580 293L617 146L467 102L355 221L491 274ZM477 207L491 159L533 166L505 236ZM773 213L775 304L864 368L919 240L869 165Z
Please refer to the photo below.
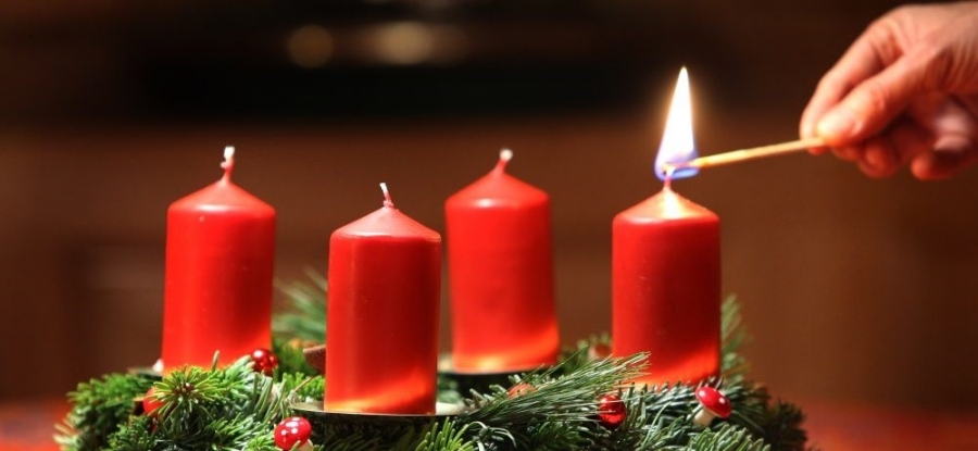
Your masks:
M441 237L393 206L333 233L326 321L330 412L435 412Z

